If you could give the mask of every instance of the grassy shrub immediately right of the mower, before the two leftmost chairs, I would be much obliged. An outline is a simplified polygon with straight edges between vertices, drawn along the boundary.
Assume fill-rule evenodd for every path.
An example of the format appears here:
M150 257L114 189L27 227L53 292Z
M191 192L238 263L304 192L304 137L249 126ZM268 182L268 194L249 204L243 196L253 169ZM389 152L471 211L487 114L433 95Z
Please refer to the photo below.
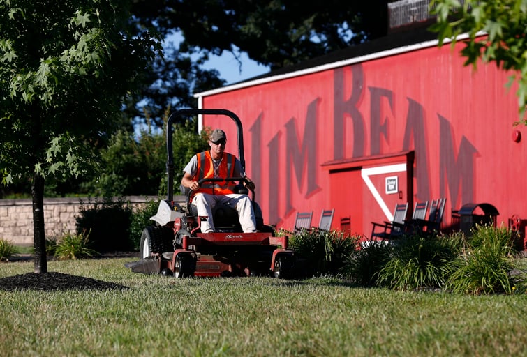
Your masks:
M302 229L290 236L289 246L306 260L308 275L337 275L357 241L341 231Z

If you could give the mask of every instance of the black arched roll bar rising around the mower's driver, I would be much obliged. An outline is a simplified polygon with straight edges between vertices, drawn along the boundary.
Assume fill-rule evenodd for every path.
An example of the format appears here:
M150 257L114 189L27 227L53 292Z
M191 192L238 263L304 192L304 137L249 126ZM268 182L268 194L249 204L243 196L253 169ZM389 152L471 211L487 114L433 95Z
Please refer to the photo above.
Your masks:
M175 119L181 116L194 116L194 115L223 115L228 116L232 121L235 122L238 130L238 160L245 169L245 156L244 156L244 136L242 121L239 117L227 109L179 109L172 112L168 117L167 122L167 200L170 202L174 199L174 153L172 148L172 125ZM211 180L211 179L209 179ZM243 180L243 178L242 178ZM217 181L239 181L230 179L218 179Z

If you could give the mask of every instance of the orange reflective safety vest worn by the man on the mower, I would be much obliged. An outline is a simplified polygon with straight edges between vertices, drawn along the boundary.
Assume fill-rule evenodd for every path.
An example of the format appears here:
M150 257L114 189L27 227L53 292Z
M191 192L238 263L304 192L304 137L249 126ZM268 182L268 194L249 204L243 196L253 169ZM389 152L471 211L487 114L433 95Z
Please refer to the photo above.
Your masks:
M200 179L212 179L214 177L219 177L221 179L234 177L236 162L235 155L225 152L223 153L216 176L214 176L214 164L212 163L210 151L203 151L202 153L196 154L196 156L198 158L198 170L195 174L196 181L199 181ZM209 193L210 195L228 195L234 193L235 185L236 183L234 181L204 182L194 194Z

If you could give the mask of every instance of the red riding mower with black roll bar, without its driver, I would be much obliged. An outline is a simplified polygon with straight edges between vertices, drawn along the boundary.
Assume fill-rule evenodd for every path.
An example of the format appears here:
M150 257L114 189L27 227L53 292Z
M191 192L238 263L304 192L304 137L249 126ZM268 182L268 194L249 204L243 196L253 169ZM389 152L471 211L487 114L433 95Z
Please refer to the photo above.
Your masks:
M262 210L251 201L256 218L255 233L244 233L237 211L226 204L213 208L214 233L202 233L200 225L207 217L198 216L186 189L185 204L173 200L174 162L172 159L172 124L179 116L221 115L235 121L238 131L238 158L245 167L242 123L236 114L225 109L181 109L173 112L167 123L168 197L159 203L151 218L155 225L145 228L140 243L140 261L126 264L136 273L161 273L176 278L192 276L272 275L292 278L295 254L288 249L288 237L276 237L274 229L264 225ZM248 194L242 177L202 179L203 182L235 181L235 192Z

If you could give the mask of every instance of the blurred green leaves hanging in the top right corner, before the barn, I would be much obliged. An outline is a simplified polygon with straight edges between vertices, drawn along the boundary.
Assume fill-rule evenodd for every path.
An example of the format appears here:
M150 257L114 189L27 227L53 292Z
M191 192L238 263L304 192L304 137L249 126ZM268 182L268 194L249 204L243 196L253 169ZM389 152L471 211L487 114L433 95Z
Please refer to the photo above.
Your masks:
M431 29L438 33L440 45L461 33L468 34L461 54L465 65L477 61L495 62L503 70L514 70L509 85L517 81L520 116L527 105L527 0L434 0L437 23ZM482 36L482 32L487 36ZM527 119L522 119L527 125Z

